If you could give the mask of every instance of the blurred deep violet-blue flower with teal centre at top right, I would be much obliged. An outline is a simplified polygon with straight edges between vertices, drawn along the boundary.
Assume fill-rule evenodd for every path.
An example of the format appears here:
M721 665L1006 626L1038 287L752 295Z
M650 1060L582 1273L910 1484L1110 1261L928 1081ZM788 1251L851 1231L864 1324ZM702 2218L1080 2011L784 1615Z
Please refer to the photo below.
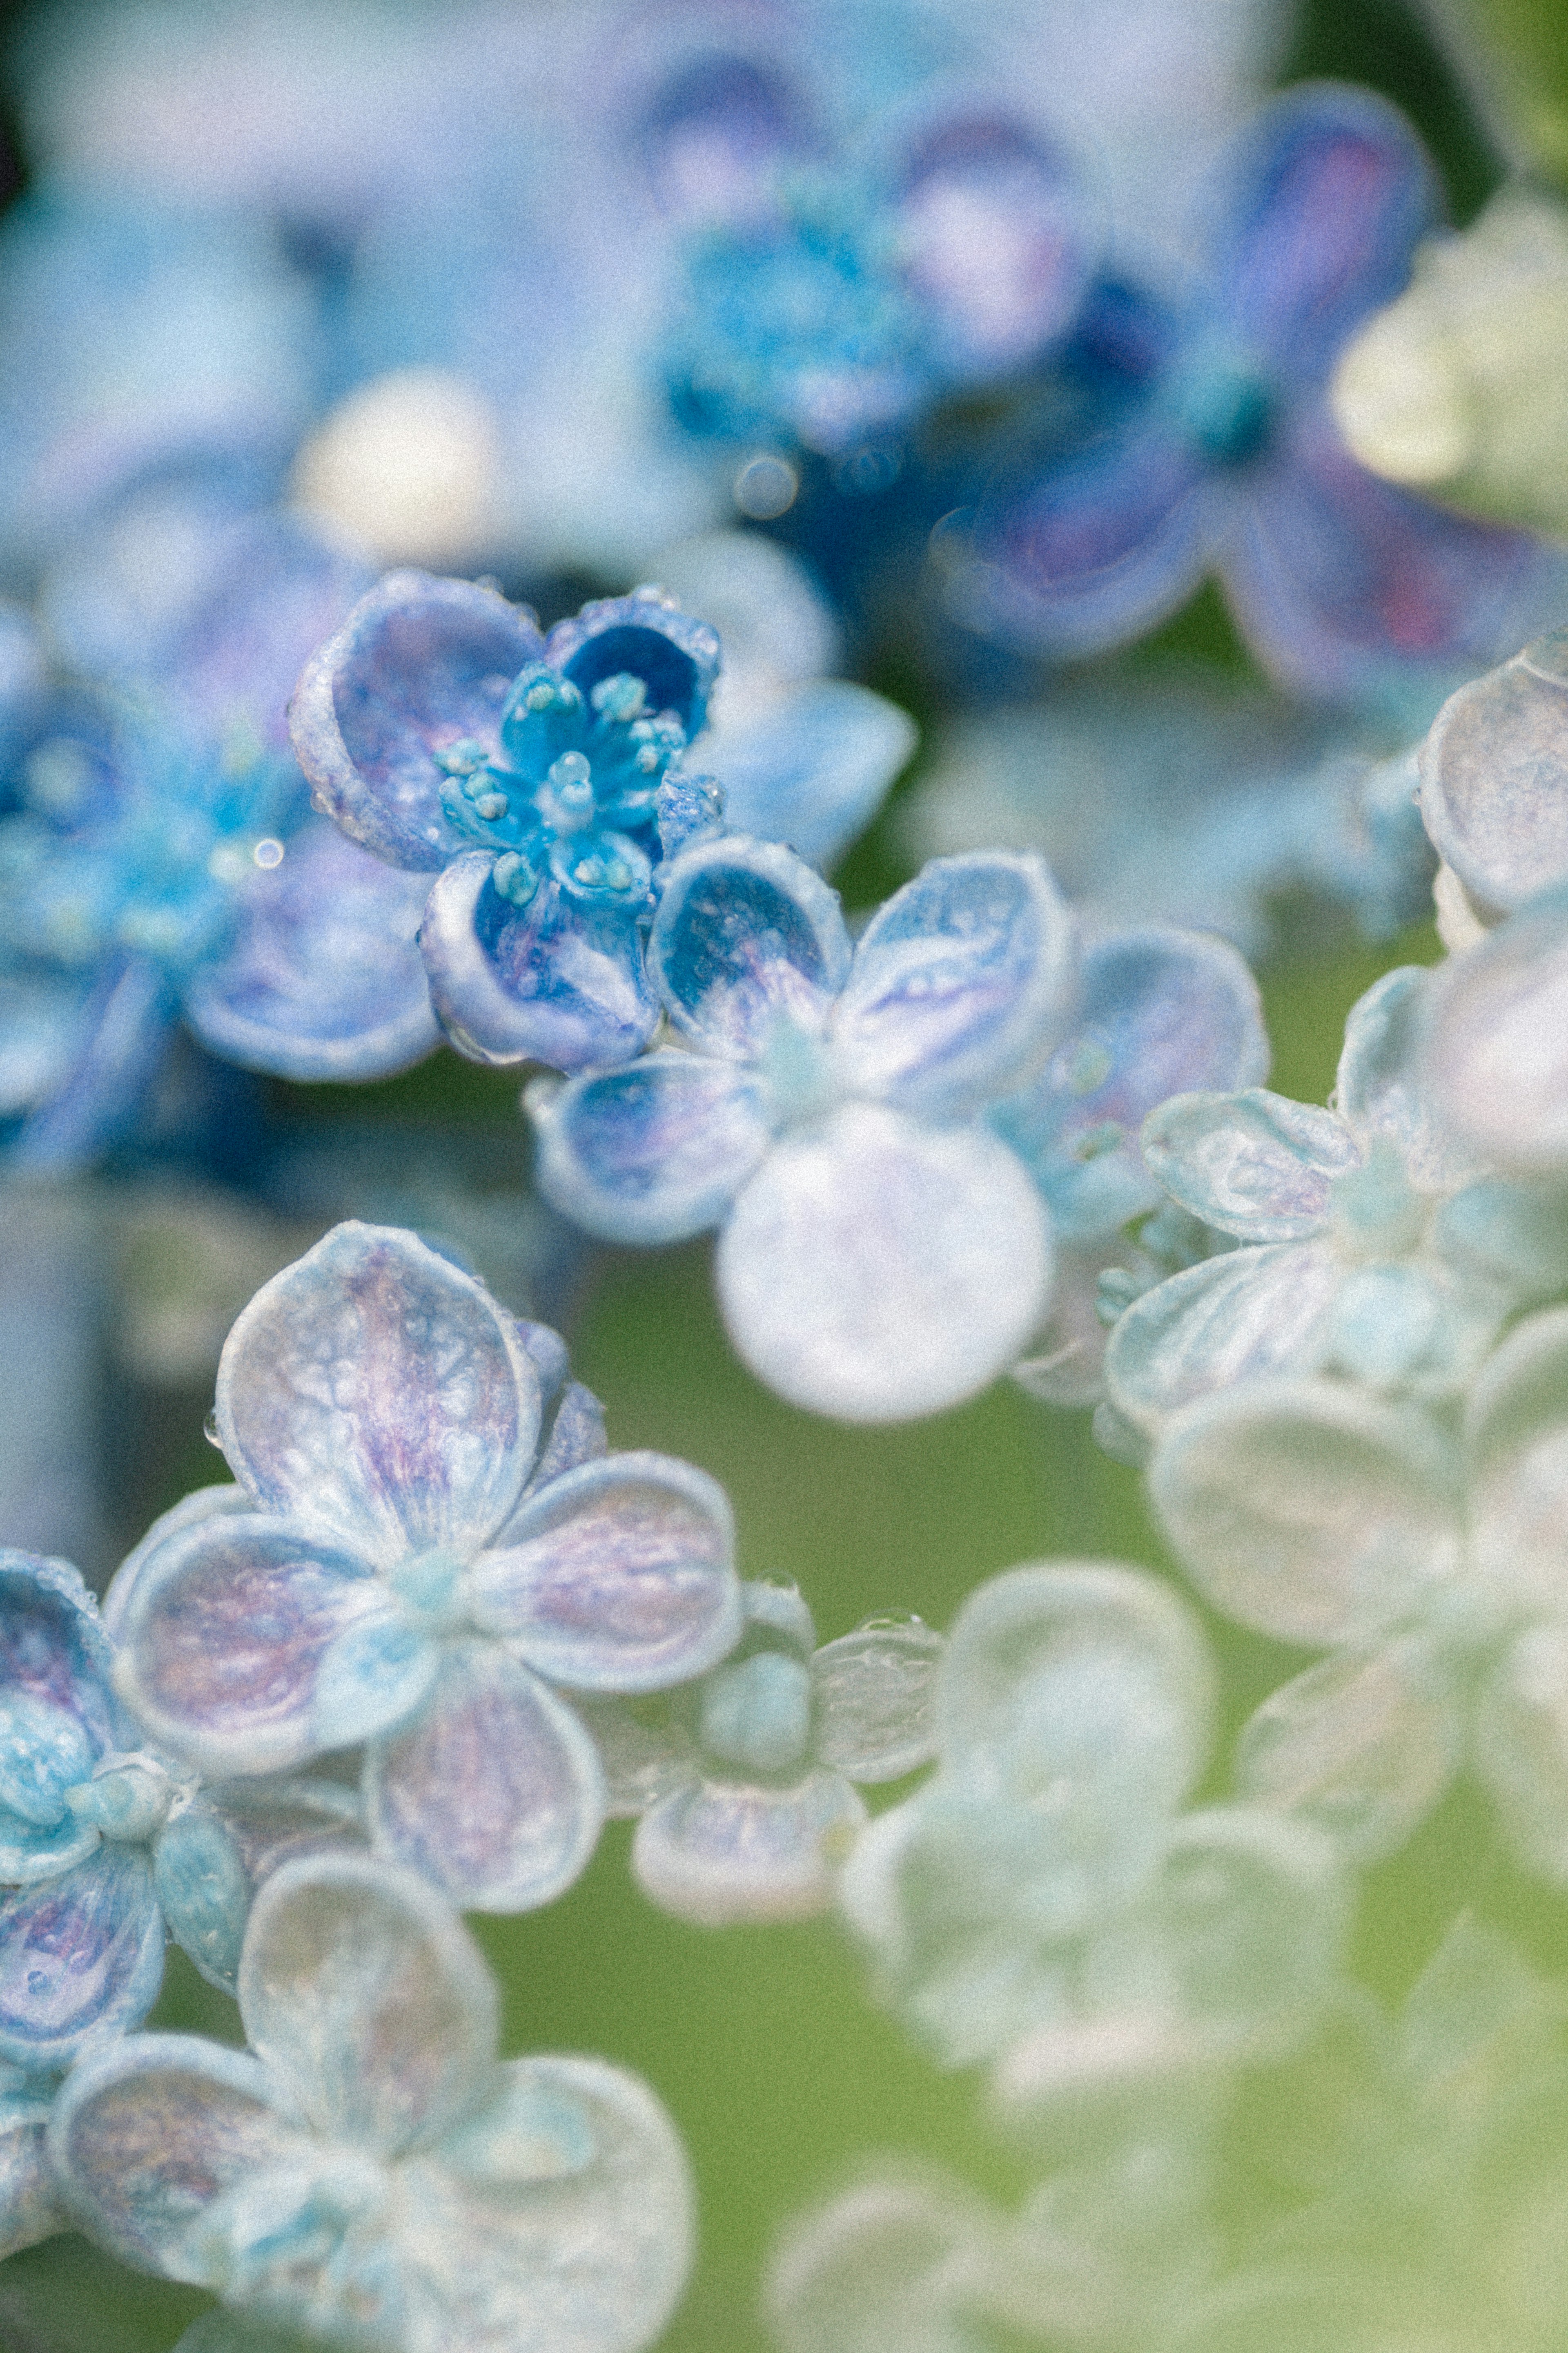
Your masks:
M1309 85L1244 134L1211 200L1208 268L1166 315L1107 294L1081 372L1110 424L987 492L980 626L1053 654L1152 628L1218 569L1248 645L1309 694L1443 692L1563 600L1544 541L1366 473L1328 412L1352 329L1401 292L1432 169L1371 92Z

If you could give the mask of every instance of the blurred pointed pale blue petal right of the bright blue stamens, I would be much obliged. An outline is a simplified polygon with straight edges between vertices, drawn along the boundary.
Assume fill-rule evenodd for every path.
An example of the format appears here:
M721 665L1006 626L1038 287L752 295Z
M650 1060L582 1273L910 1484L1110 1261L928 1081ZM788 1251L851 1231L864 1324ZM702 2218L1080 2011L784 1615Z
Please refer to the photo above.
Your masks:
M898 704L844 678L813 680L712 746L724 821L827 871L865 833L917 741Z

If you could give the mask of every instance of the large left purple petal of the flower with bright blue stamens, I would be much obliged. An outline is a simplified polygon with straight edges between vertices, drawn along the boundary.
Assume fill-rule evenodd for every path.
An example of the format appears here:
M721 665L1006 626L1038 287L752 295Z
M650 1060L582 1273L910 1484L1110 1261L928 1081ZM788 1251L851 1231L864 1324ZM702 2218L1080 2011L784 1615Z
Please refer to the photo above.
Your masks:
M543 656L534 621L491 588L388 572L301 671L294 751L327 812L390 866L447 864L449 744L498 744L505 689Z

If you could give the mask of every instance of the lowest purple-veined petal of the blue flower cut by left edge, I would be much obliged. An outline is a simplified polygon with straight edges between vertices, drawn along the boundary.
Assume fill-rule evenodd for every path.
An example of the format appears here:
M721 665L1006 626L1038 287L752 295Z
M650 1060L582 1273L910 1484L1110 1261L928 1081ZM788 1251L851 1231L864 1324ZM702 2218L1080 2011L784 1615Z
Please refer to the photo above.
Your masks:
M0 1894L0 2059L47 2075L141 2026L162 1984L153 1868L106 1845L59 1880Z

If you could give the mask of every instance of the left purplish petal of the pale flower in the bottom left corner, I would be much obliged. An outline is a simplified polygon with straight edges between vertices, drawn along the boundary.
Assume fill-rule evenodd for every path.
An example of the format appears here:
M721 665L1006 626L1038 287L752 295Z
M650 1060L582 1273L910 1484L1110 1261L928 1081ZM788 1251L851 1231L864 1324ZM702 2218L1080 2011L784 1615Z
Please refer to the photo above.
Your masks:
M82 2059L54 2101L49 2158L92 2235L139 2271L202 2282L186 2240L230 2184L301 2151L249 2052L136 2035Z

